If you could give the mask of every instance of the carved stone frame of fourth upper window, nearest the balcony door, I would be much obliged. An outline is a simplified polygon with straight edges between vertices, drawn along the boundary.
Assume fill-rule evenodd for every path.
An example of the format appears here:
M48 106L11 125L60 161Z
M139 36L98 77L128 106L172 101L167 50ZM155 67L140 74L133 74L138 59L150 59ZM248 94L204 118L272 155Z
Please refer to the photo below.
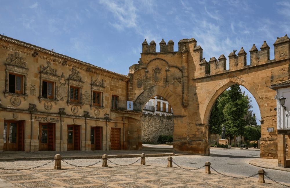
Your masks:
M96 106L93 104L93 92L99 92L101 93L101 104L100 106ZM93 77L91 79L91 103L90 103L90 107L91 110L92 108L104 108L104 91L105 91L105 86L104 86L104 79L99 80L99 78L97 77L95 80L93 80Z

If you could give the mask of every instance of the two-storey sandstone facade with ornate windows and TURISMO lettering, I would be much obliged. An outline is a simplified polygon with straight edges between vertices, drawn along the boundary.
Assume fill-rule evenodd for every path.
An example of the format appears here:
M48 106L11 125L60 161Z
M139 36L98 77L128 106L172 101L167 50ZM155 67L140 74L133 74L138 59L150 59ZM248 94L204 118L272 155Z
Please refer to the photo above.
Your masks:
M128 149L127 76L0 37L0 151Z

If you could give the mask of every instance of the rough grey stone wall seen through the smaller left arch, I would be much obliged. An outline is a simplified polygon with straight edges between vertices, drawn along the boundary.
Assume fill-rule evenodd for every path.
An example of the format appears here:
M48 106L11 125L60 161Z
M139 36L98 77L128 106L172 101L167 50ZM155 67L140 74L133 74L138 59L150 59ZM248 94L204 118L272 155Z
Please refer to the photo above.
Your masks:
M143 114L142 142L157 143L159 135L173 135L173 117Z

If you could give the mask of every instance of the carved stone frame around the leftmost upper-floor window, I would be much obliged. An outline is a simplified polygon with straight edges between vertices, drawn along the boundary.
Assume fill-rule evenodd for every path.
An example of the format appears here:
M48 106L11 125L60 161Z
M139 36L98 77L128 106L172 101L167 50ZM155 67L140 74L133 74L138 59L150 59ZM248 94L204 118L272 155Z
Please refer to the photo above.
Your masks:
M14 52L14 54L8 54L5 63L5 90L4 90L4 97L7 98L8 95L11 96L18 96L23 97L24 101L27 100L27 76L28 76L28 68L26 58L19 56L18 52ZM10 93L9 92L9 74L18 74L23 76L23 83L22 83L22 93Z

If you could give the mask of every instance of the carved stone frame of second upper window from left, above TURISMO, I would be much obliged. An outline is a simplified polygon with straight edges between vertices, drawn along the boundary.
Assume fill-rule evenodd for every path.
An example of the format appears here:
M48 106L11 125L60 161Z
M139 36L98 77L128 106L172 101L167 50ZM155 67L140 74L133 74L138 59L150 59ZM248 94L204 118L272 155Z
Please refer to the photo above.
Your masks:
M57 70L56 69L52 69L50 67L51 62L47 61L46 62L47 66L41 66L40 65L40 77L39 77L39 103L41 103L41 101L51 101L54 102L55 104L57 104L58 99L56 98L56 88L57 88L57 82L59 81L59 76L57 75ZM42 96L42 82L43 81L48 81L48 82L53 82L53 97L52 98L45 98Z

